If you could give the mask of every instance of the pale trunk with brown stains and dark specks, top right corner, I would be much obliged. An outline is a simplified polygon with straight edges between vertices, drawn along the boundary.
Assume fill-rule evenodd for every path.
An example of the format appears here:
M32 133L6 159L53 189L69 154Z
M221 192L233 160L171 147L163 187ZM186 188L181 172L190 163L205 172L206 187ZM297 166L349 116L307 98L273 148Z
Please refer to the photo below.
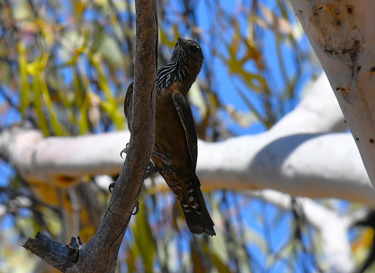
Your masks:
M375 185L375 1L290 0Z

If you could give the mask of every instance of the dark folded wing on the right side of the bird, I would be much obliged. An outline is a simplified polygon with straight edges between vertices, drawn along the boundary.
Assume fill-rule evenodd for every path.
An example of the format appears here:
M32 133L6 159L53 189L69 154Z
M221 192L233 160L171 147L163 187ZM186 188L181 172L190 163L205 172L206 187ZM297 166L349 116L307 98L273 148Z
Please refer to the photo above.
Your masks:
M172 98L180 117L182 127L184 128L187 145L189 146L190 156L193 162L194 170L196 168L196 159L198 156L198 139L196 137L193 114L189 102L180 92L173 92Z

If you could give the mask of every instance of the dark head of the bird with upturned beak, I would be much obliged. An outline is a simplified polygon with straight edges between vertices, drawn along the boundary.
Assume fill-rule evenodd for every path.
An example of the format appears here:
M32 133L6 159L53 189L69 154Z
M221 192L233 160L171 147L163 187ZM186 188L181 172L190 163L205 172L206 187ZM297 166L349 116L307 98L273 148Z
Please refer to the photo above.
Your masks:
M192 40L177 38L171 61L176 61L178 65L184 65L186 71L199 74L203 64L202 49L197 42Z

